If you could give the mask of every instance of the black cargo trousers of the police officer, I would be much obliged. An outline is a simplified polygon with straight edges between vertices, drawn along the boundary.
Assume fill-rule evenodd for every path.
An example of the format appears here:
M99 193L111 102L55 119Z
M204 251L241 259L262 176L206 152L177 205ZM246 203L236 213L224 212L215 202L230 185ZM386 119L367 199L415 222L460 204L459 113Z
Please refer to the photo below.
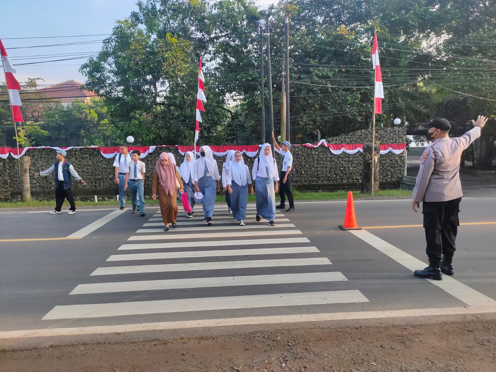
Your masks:
M460 226L458 212L461 197L448 201L424 201L424 229L426 231L429 258L442 258L441 254L453 254L455 240Z

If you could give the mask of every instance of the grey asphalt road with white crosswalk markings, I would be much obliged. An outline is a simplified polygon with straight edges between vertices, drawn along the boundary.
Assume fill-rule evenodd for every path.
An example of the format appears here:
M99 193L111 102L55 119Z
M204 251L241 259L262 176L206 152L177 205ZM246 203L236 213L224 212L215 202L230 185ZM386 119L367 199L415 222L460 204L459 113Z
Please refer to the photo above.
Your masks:
M0 212L0 345L31 336L496 311L496 198L462 200L456 273L435 283L412 273L427 259L422 215L410 200L355 201L359 232L338 228L345 206L297 202L296 212L278 212L275 227L256 223L252 207L240 227L222 204L207 227L196 207L195 218L180 212L167 233L158 208L146 217L129 209Z

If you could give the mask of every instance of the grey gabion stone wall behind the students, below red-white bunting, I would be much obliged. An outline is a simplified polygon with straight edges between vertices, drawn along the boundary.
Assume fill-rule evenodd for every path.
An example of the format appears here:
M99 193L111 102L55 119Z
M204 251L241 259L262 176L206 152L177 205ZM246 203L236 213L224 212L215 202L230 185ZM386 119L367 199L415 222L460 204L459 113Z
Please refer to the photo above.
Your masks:
M394 131L396 130L396 132ZM402 133L401 135L398 132ZM369 136L371 137L369 139ZM330 143L366 143L372 140L372 134L367 130L353 132L340 137L330 138ZM405 132L402 128L379 129L376 141L380 143L403 143ZM183 156L176 147L157 147L142 161L146 164L145 195L150 196L153 170L161 152L172 152L178 165L183 162ZM356 189L362 182L362 153L332 154L328 148L319 146L308 148L293 146L293 185L297 189L329 190L329 189ZM34 199L53 198L55 195L54 175L34 178L34 174L44 171L56 161L56 151L52 149L31 149L24 156L31 158L30 186ZM86 186L74 183L73 192L77 199L115 199L118 194L114 183L114 159L104 158L98 149L81 148L67 151L69 161L79 176L86 181ZM222 163L225 157L215 157L222 173ZM256 158L245 156L245 163L251 171ZM279 165L282 156L276 153ZM382 188L398 186L405 169L405 153L395 155L391 152L380 156L380 182ZM12 200L20 197L18 161L11 156L0 159L0 200Z

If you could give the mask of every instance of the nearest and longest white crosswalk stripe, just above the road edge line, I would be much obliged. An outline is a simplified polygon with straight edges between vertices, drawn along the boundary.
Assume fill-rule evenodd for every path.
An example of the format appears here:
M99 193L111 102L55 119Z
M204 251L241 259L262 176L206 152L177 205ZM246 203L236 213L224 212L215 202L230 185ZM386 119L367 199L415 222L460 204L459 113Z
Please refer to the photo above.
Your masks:
M43 317L43 320L358 302L369 302L369 300L357 290L133 301L125 304L119 302L114 304L56 306Z

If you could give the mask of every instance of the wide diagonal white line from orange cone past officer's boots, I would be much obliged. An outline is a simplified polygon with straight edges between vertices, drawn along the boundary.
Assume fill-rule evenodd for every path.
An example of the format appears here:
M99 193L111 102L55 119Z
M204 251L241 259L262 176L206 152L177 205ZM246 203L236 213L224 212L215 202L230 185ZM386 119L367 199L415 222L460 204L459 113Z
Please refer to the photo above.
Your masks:
M385 255L391 257L409 270L414 271L417 269L423 269L426 266L425 262L422 262L401 249L394 247L386 241L371 234L367 230L350 230L350 233L370 244L372 247L378 249ZM426 280L429 280L432 284L464 302L468 306L496 306L495 300L483 295L480 292L477 292L475 289L472 289L447 275L443 275L442 280Z

